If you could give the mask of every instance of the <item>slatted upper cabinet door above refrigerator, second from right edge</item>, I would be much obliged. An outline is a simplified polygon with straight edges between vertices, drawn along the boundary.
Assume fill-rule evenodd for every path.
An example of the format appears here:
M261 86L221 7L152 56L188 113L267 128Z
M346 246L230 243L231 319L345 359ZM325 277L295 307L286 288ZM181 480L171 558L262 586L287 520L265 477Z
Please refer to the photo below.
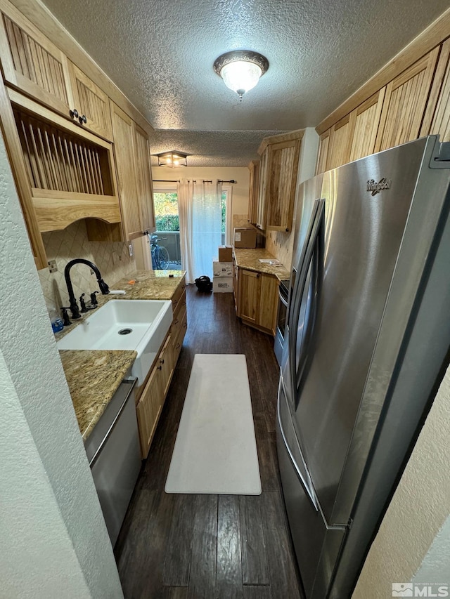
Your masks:
M418 138L438 55L435 48L387 84L375 152Z

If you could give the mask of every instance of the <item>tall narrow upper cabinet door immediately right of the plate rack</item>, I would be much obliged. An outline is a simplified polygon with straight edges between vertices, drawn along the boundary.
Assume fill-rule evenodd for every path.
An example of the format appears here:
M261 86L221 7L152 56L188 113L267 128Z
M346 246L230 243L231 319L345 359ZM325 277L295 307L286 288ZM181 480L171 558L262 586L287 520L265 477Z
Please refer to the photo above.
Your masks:
M110 106L122 228L124 240L129 240L143 235L136 185L134 122L115 103Z

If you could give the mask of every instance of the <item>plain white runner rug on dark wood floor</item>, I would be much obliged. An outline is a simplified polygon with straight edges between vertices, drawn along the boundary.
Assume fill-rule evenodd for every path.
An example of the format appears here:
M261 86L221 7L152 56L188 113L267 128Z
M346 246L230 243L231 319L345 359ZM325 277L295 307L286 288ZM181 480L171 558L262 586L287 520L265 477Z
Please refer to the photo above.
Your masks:
M165 491L261 493L245 355L195 355Z

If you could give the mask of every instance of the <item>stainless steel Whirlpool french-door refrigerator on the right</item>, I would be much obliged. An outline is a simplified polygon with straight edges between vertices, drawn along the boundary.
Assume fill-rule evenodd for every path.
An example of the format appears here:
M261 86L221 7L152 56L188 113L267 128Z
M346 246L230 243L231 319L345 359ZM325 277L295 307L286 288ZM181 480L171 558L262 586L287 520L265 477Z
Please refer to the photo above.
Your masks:
M303 183L276 423L307 599L350 597L448 364L450 150Z

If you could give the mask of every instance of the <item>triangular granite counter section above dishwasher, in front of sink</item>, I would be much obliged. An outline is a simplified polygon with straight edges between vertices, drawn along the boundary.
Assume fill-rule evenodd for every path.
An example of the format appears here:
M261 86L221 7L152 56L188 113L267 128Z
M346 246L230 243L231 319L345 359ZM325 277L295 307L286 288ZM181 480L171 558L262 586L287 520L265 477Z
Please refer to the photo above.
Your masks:
M83 440L91 434L134 360L135 351L62 350L59 353Z

